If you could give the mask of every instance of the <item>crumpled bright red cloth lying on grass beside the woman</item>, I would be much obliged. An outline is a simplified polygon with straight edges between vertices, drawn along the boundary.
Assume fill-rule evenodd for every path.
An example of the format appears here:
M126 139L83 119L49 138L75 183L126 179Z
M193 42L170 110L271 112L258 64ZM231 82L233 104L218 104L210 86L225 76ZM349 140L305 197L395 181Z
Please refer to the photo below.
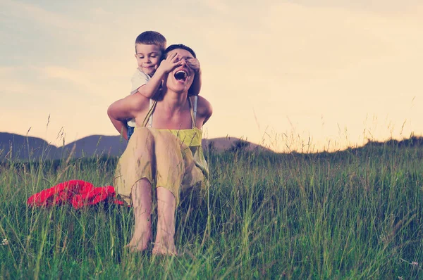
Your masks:
M116 199L113 186L95 187L89 182L71 180L35 193L28 198L27 205L48 207L51 205L71 204L74 208L79 209L82 206L101 202L124 204L123 201Z

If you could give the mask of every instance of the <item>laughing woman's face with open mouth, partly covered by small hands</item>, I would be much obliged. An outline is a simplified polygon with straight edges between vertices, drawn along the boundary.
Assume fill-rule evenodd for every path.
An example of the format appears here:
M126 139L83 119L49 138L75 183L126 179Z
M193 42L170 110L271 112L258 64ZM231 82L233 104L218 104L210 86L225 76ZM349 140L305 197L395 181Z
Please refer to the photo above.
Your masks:
M174 49L173 51L169 51L168 56L171 56L173 53L178 53L181 64L169 72L166 79L166 87L172 91L182 93L190 89L192 81L194 80L195 72L187 64L187 61L189 59L194 59L194 57L185 49Z

